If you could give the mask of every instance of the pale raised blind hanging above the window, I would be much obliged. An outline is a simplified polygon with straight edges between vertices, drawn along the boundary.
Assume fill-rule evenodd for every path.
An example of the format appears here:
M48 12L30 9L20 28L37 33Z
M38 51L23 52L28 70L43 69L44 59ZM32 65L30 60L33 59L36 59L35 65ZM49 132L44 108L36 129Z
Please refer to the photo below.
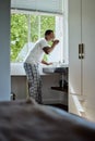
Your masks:
M11 0L11 9L62 14L63 0Z

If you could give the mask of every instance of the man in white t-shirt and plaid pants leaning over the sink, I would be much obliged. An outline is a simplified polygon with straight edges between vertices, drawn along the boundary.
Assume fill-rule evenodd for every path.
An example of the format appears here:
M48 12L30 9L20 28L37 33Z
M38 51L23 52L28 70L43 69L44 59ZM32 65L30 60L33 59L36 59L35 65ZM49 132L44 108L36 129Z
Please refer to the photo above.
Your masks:
M38 73L38 64L52 64L44 61L43 57L45 53L49 54L58 44L59 40L54 39L54 31L50 29L46 30L45 38L39 39L34 44L34 48L29 51L24 61L24 68L28 80L29 97L33 97L38 103L41 103L41 82ZM52 41L51 47L48 46L48 41Z

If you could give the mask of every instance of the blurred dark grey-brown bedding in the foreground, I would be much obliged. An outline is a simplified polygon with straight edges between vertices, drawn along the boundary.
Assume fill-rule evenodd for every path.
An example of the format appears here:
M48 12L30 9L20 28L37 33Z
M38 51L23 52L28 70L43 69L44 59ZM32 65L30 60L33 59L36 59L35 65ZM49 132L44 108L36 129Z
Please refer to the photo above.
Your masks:
M0 141L94 141L95 123L33 99L0 102Z

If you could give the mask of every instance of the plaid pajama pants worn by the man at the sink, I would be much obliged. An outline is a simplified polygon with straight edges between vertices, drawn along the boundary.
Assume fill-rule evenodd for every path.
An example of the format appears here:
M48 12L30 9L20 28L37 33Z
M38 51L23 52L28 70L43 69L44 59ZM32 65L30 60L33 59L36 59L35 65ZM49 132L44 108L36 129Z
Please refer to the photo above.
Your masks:
M41 79L38 72L38 64L24 63L24 69L28 81L29 97L37 103L41 103Z

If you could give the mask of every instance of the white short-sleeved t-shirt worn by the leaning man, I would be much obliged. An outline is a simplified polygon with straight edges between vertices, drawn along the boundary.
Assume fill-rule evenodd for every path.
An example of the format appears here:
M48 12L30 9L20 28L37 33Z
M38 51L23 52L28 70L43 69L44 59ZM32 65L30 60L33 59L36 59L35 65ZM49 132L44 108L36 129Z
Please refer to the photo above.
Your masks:
M47 47L48 42L45 38L39 39L35 44L34 48L28 52L25 62L26 63L39 63L44 56L44 47Z

